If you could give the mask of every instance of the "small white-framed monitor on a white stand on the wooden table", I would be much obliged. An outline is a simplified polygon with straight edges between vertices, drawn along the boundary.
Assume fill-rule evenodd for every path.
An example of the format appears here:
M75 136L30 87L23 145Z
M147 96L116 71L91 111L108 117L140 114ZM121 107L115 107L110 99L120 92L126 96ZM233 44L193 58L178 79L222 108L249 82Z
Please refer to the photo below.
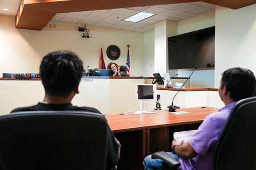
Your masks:
M155 84L136 84L135 96L136 100L140 101L140 111L136 111L134 114L141 113L155 113L146 111L144 108L145 101L157 100L157 86Z

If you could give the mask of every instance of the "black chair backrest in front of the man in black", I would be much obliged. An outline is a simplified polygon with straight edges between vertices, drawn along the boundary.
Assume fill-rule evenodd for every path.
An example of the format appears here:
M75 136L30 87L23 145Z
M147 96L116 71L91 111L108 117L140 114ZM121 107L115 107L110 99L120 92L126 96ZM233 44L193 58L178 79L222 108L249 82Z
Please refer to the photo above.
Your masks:
M83 111L29 111L0 116L5 169L106 169L108 123Z

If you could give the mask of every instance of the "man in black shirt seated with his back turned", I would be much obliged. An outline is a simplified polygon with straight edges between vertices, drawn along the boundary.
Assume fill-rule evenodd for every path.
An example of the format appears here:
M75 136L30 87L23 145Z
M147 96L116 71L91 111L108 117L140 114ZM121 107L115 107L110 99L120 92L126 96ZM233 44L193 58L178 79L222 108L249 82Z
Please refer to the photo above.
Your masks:
M20 107L11 111L39 110L76 110L101 114L91 107L77 107L71 104L79 93L78 86L82 77L83 65L78 56L69 51L57 51L47 54L41 61L39 74L45 88L45 98L37 105ZM120 156L120 142L109 129L108 168L114 167Z

